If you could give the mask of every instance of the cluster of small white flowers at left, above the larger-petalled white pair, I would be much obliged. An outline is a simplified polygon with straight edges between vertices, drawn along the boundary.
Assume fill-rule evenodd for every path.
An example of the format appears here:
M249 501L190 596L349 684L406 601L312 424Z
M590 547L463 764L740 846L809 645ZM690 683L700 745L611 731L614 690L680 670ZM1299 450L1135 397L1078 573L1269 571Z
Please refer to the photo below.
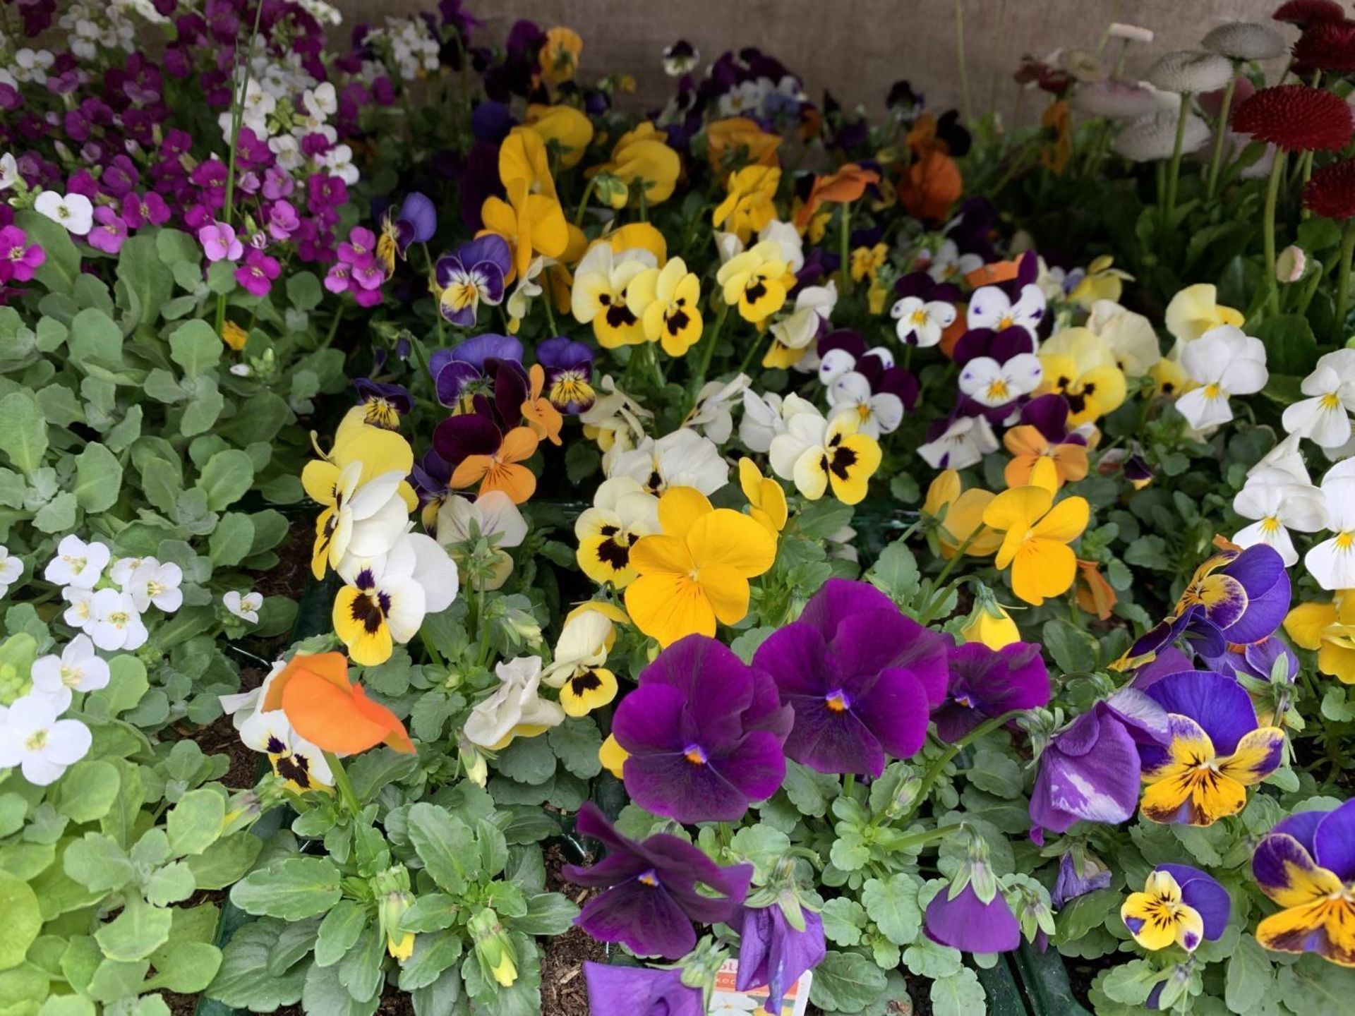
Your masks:
M140 649L149 637L141 615L150 607L172 614L183 606L183 572L153 557L111 558L107 545L85 543L72 534L57 546L42 577L62 587L61 597L70 604L66 625L80 629L99 649Z

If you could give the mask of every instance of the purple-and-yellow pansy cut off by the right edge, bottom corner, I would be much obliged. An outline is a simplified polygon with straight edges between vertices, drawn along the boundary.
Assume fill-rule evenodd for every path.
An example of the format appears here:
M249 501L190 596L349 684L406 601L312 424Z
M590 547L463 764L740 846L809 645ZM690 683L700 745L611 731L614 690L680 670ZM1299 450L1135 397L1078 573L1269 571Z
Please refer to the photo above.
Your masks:
M1252 874L1280 906L1256 928L1262 946L1355 967L1355 801L1282 818L1256 847Z

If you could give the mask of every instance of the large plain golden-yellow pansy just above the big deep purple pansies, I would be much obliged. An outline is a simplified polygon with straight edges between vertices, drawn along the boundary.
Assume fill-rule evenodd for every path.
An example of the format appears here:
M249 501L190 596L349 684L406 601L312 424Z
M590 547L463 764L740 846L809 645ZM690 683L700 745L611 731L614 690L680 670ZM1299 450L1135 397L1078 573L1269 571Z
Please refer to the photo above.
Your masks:
M691 634L713 637L715 623L748 614L748 580L776 558L776 538L753 519L714 508L703 493L672 486L659 499L661 535L630 550L640 573L626 587L635 627L668 646Z

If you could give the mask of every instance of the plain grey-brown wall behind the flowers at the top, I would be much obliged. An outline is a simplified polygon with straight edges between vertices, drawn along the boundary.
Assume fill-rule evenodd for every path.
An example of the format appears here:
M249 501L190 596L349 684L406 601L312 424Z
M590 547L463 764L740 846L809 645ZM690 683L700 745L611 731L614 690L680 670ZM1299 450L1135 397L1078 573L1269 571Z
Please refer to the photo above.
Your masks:
M958 0L976 115L989 108L996 72L997 108L1011 118L1016 85L1011 80L1022 54L1045 57L1062 46L1095 49L1111 20L1152 28L1152 46L1135 45L1129 69L1142 70L1169 50L1194 49L1221 22L1263 20L1279 0ZM434 9L436 0L337 0L346 23L385 14ZM900 77L927 93L942 110L959 103L955 60L957 0L467 0L485 22L482 38L500 42L518 18L543 28L573 27L584 38L583 73L629 73L635 100L659 104L669 95L659 54L679 38L694 43L703 61L726 49L756 45L798 73L810 96L824 85L847 106L883 106ZM1005 8L1005 15L1003 9ZM1274 24L1274 23L1272 23ZM1286 38L1297 37L1278 26ZM1272 76L1278 73L1271 72ZM1031 99L1023 119L1038 115Z

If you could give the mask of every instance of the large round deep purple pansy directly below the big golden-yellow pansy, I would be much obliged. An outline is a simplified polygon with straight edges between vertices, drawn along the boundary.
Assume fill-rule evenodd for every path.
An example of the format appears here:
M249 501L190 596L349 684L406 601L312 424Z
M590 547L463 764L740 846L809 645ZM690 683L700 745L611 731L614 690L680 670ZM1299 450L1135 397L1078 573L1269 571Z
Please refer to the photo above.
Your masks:
M791 711L771 677L706 635L673 642L617 707L626 792L679 822L736 822L786 778Z

